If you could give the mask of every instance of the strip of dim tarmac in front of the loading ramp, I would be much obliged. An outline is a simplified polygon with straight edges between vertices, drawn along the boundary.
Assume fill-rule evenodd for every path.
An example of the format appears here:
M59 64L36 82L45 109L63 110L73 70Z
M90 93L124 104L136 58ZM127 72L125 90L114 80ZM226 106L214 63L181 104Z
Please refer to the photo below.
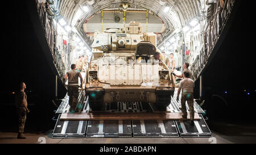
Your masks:
M249 134L249 135L246 135ZM212 131L212 137L171 138L80 138L52 139L52 130L36 134L25 133L27 139L16 139L17 133L0 132L0 144L234 144L256 143L256 133L222 135Z

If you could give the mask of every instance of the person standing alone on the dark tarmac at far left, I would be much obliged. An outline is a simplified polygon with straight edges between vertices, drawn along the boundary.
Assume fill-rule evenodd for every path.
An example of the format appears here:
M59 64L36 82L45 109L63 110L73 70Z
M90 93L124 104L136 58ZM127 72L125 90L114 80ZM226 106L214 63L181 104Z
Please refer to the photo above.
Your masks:
M15 105L18 112L18 121L19 121L19 133L18 139L26 139L24 136L24 126L27 119L27 112L29 112L27 108L27 95L24 92L26 89L26 85L24 82L20 83L20 90L16 94L15 97Z

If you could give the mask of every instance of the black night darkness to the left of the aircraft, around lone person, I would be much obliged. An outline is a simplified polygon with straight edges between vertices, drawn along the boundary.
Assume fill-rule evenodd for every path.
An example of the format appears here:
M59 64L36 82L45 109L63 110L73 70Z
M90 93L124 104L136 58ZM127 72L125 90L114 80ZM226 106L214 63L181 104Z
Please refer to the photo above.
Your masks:
M1 118L2 131L16 131L17 120L12 92L19 82L27 85L28 108L26 131L44 131L54 127L55 74L34 31L25 1L5 2L2 11ZM11 8L11 11L10 11ZM36 12L35 12L36 13ZM38 27L42 28L42 27Z

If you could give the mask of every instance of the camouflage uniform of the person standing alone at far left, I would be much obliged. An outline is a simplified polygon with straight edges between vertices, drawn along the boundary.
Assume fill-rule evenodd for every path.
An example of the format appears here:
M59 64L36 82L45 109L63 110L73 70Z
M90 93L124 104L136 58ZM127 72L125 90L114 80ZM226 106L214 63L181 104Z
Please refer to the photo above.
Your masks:
M16 109L18 113L19 133L24 132L25 122L27 119L27 110L23 105L23 100L25 100L27 104L27 95L24 93L24 91L19 91L15 98Z

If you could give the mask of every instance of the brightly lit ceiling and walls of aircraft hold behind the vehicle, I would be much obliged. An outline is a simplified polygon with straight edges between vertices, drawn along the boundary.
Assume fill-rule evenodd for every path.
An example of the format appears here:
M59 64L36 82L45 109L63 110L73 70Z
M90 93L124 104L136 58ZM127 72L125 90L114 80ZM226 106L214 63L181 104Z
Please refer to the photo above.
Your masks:
M63 70L61 73L67 71L79 56L92 56L94 32L123 28L135 21L141 23L143 32L155 33L156 47L160 51L167 56L174 53L177 69L181 69L184 62L189 62L193 79L196 79L207 64L234 2L38 0L36 4L49 47L56 51L52 54L54 63L59 64L56 68Z

